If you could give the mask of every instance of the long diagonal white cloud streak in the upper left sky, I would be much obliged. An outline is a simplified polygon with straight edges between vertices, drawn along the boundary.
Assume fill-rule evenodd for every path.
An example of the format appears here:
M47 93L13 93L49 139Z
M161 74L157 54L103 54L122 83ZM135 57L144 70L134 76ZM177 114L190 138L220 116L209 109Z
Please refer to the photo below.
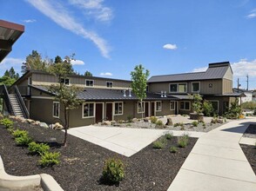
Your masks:
M50 17L52 21L65 30L71 30L71 32L78 36L90 39L98 47L102 56L109 57L110 48L105 40L94 31L84 29L82 23L78 23L61 3L51 0L27 0L27 2L41 11L45 16Z

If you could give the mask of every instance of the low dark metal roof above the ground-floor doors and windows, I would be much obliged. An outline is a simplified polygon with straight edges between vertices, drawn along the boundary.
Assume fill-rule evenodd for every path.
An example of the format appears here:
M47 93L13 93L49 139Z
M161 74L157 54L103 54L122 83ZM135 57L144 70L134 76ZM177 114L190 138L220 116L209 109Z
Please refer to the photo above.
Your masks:
M44 86L30 85L31 88L41 90L44 93L52 95L48 89ZM125 96L124 96L125 95ZM80 91L77 94L77 97L81 100L86 101L125 101L133 100L138 101L138 97L131 92L129 96L129 91L124 92L123 89L94 89L94 88L85 88L83 91ZM151 100L179 100L181 97L179 95L166 95L166 97L161 96L160 94L146 93L145 101Z

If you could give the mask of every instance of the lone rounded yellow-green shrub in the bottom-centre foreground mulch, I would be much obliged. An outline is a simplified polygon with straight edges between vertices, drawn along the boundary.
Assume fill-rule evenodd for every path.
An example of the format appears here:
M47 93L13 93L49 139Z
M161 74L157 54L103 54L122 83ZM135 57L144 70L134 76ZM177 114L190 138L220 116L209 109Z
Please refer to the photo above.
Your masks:
M110 183L118 183L125 177L125 165L124 163L116 158L110 158L104 161L104 168L102 172L104 181Z

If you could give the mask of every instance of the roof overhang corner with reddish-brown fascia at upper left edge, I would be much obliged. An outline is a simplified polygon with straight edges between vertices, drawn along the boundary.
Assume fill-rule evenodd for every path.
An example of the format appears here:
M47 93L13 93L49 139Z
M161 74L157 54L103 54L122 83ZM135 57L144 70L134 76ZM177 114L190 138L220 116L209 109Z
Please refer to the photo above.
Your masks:
M0 20L0 63L23 33L24 25Z

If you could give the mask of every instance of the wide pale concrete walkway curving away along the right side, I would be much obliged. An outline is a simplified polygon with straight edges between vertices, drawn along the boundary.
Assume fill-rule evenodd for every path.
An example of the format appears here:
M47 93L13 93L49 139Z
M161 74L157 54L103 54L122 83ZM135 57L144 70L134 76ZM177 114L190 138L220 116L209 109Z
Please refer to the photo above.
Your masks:
M239 141L256 118L233 121L202 135L168 190L255 191L256 176Z

